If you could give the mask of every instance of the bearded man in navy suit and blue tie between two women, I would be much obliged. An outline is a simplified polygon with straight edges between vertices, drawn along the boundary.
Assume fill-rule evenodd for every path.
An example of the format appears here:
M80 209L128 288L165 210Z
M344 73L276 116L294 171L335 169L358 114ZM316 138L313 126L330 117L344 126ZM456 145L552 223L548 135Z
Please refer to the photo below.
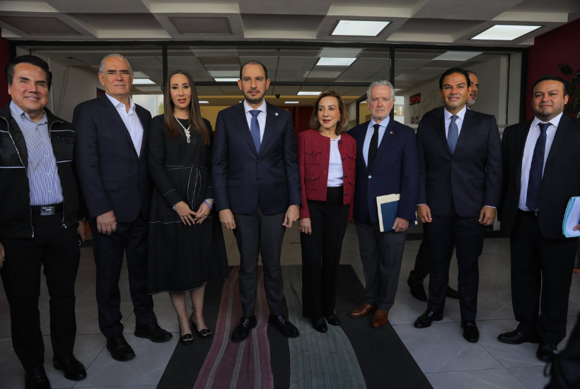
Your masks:
M300 173L292 117L264 100L266 66L243 64L238 86L243 103L219 112L212 177L221 224L233 230L240 250L243 317L231 335L242 342L256 326L257 262L262 254L268 323L287 337L298 330L282 314L282 238L298 220Z

